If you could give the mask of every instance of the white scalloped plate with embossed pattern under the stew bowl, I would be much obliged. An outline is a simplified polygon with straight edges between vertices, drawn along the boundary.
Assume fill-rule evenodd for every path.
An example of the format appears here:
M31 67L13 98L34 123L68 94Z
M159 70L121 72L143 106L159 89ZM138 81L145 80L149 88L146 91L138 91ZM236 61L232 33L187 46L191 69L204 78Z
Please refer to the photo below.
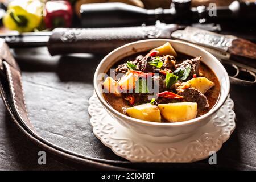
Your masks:
M189 137L151 137L135 133L115 121L102 107L96 94L89 100L93 133L105 146L131 162L195 162L220 150L235 129L234 102L228 98L216 116Z

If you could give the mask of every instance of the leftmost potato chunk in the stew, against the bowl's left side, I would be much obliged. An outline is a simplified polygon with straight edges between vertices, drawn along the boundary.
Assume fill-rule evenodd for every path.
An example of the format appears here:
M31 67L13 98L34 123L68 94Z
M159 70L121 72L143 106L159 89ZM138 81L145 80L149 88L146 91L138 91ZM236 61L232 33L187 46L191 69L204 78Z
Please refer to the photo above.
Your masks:
M106 77L105 81L103 82L103 86L104 93L113 93L118 97L122 96L119 84L112 77Z

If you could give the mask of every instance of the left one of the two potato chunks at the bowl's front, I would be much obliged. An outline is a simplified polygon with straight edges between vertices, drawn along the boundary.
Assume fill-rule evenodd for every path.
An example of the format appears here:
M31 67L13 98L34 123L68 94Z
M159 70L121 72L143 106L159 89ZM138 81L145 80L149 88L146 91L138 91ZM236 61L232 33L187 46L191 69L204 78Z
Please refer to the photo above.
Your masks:
M161 115L158 106L147 103L126 109L127 114L132 118L144 121L161 122Z

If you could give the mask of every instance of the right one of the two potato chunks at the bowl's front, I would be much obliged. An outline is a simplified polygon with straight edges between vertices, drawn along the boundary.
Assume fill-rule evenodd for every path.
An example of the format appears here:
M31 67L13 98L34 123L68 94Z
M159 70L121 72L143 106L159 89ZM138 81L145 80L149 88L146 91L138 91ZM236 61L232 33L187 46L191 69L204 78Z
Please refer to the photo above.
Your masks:
M187 121L196 118L196 102L176 102L158 105L162 116L170 122Z

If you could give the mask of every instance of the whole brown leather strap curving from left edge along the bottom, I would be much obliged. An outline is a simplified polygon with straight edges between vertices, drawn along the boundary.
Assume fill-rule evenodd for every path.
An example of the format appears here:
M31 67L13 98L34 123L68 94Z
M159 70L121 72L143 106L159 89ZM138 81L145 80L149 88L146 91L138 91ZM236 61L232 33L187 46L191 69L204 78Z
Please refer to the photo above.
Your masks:
M6 109L13 118L15 124L19 126L23 133L27 135L32 142L35 142L45 150L50 151L55 155L75 160L79 163L86 163L92 168L105 170L127 169L112 166L110 164L100 163L79 154L73 154L64 148L55 146L53 143L48 142L44 138L40 137L38 133L36 133L35 128L30 122L26 109L20 68L14 57L11 55L9 47L3 39L0 39L0 93Z

